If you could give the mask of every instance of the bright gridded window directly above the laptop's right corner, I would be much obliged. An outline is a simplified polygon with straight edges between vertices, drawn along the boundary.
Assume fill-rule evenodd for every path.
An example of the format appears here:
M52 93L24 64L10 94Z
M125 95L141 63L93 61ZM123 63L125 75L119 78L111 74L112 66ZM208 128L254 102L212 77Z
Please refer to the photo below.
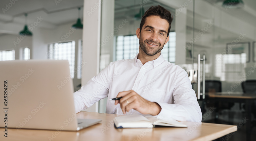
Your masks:
M75 41L54 43L48 46L48 59L68 60L71 77L74 78L75 69Z

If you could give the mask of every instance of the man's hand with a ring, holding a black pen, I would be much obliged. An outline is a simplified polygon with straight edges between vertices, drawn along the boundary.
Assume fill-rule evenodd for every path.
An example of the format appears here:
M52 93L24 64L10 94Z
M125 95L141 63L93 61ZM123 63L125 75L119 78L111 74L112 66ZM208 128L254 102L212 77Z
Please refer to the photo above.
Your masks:
M115 100L115 105L120 103L124 114L134 109L142 114L158 115L162 110L158 103L144 99L133 90L119 92L116 97L122 97L120 100Z

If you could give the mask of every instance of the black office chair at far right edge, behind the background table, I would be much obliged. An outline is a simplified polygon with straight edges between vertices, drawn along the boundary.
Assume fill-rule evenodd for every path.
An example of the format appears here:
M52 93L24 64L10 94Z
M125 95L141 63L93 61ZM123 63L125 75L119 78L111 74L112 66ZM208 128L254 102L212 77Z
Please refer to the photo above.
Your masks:
M246 80L242 82L244 93L253 93L256 95L256 80ZM245 109L245 107L243 107ZM253 125L256 126L256 101L252 104L252 114L254 115Z

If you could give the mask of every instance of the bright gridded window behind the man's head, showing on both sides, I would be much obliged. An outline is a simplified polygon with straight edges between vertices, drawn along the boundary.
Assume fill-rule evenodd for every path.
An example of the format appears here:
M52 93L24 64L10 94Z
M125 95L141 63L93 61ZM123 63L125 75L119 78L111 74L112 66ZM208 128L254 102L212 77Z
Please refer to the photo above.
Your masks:
M176 32L169 33L169 41L161 53L165 60L175 63ZM116 36L115 60L132 59L139 52L139 39L136 35Z

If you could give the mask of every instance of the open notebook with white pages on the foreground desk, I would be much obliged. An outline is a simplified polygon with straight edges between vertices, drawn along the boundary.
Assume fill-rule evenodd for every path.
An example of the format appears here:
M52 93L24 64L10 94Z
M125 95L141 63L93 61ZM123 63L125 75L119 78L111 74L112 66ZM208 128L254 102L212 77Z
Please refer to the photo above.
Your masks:
M161 120L154 116L129 115L114 118L115 128L153 128L155 125L170 127L187 127L176 120Z

